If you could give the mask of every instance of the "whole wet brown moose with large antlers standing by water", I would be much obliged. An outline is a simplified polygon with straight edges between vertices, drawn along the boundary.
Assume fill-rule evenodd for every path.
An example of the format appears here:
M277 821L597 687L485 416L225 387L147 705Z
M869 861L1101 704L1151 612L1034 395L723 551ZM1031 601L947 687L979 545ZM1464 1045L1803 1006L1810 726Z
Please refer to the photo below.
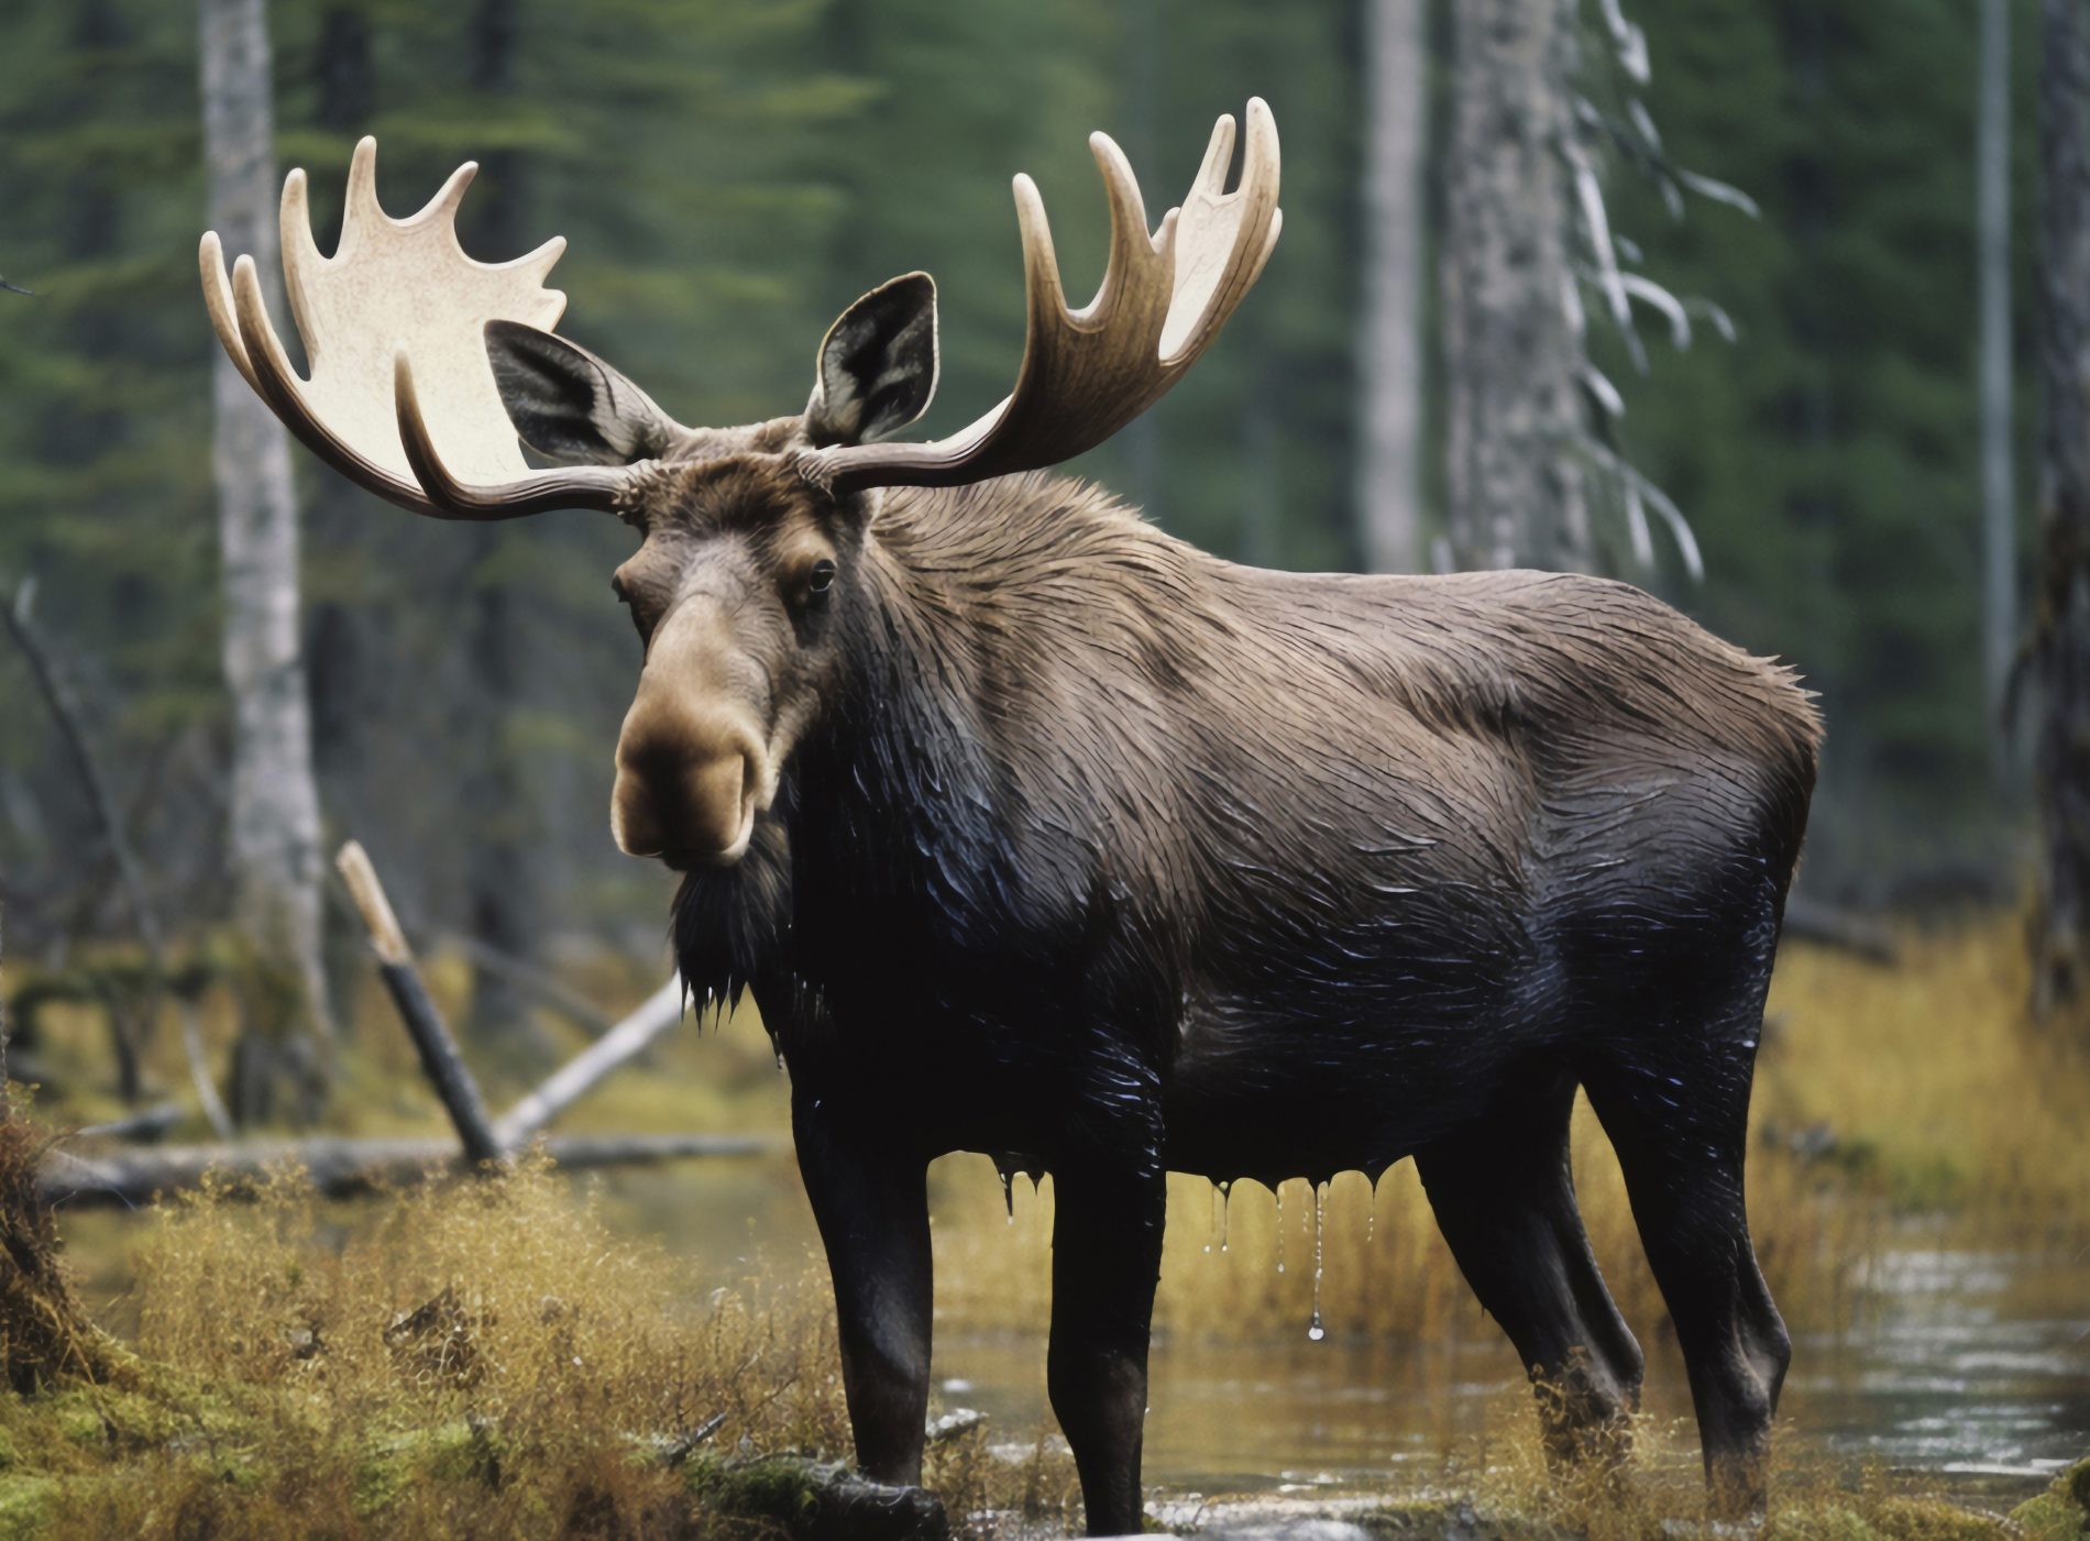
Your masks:
M1626 583L1260 571L1051 475L1183 376L1279 232L1260 100L1237 178L1221 117L1158 228L1118 146L1091 148L1101 289L1068 307L1018 176L1016 387L940 441L899 437L936 387L926 274L834 322L803 412L692 429L552 332L562 240L468 257L472 165L393 220L372 140L330 257L305 176L284 186L309 378L253 257L228 274L207 234L203 289L249 385L366 489L637 535L610 828L683 874L688 987L752 993L790 1068L869 1476L922 1474L924 1173L953 1150L1053 1177L1047 1384L1091 1533L1141 1522L1168 1171L1275 1186L1413 1156L1549 1449L1613 1459L1643 1357L1576 1211L1582 1087L1712 1503L1760 1512L1791 1349L1745 1119L1812 696Z

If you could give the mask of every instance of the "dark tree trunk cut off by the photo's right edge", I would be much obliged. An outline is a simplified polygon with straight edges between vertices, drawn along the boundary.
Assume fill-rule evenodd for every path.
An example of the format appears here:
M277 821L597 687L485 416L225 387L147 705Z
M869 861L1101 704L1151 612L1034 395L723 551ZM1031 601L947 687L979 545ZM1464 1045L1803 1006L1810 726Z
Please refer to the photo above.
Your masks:
M2040 59L2042 569L2031 667L2040 895L2034 1006L2082 1006L2090 987L2090 171L2084 163L2084 0L2044 0Z

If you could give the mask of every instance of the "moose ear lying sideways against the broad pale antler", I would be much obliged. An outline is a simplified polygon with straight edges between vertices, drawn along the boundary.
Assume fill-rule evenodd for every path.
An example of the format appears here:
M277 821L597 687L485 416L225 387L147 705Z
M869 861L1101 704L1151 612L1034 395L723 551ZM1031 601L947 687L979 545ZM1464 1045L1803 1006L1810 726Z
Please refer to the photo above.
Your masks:
M491 320L487 358L522 443L562 466L660 458L683 433L646 391L564 337Z

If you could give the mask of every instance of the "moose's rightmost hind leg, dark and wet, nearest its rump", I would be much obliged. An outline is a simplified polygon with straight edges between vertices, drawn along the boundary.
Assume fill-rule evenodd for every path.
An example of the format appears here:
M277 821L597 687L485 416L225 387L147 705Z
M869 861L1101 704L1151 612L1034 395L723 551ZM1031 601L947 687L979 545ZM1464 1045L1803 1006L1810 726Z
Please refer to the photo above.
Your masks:
M1764 1512L1770 1420L1793 1357L1749 1244L1743 1206L1756 1037L1670 1052L1586 1077L1626 1173L1641 1246L1691 1376L1705 1482L1720 1516Z

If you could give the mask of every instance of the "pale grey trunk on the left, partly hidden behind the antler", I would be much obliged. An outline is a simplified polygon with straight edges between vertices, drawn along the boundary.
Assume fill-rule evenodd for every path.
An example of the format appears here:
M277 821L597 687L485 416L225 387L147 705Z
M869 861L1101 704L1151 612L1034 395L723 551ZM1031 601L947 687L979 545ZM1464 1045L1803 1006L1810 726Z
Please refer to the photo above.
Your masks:
M263 0L199 0L209 220L263 280L276 249L274 113ZM280 301L278 301L280 307ZM320 966L320 799L299 650L297 500L282 424L230 360L213 358L226 684L232 692L232 874L236 912L270 1002L259 1027L318 1077L328 1037Z

